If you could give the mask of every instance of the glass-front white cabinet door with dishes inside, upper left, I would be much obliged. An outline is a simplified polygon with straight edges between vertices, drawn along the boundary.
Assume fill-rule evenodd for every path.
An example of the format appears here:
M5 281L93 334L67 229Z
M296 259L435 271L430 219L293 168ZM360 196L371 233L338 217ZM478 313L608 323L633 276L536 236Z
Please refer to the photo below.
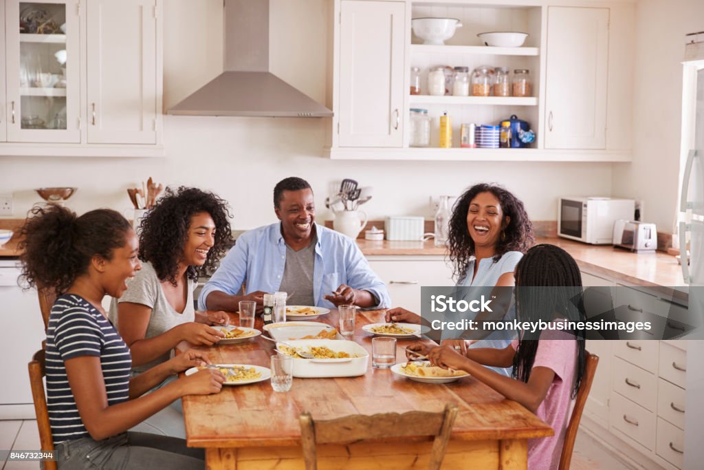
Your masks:
M80 142L77 4L6 0L8 142Z

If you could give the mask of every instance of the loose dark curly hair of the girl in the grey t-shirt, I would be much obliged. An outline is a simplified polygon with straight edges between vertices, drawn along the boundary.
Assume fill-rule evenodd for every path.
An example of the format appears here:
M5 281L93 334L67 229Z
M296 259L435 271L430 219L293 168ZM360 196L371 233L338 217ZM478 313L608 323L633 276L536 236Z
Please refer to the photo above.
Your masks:
M178 264L188 239L191 217L207 212L215 222L215 243L203 266L188 266L186 276L197 280L200 272L214 271L228 245L232 245L227 202L195 187L166 188L139 224L139 259L149 261L161 280L177 285Z

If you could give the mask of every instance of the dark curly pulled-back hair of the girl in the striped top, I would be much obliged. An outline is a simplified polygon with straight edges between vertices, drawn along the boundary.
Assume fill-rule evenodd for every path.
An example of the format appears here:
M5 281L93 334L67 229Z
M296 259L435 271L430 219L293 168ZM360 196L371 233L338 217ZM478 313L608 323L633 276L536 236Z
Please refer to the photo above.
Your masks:
M130 222L117 211L96 209L78 217L63 206L34 206L20 229L20 285L66 292L95 255L112 259L124 247Z

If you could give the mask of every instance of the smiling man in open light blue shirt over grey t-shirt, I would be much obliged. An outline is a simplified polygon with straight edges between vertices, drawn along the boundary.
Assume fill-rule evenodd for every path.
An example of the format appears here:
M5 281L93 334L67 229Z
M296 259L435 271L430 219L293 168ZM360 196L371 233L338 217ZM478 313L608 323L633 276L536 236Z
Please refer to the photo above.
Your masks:
M243 233L203 287L200 309L237 311L241 300L263 307L266 292L288 292L289 305L391 306L386 285L351 238L315 223L313 190L286 178L274 188L279 223ZM236 295L242 284L245 295Z

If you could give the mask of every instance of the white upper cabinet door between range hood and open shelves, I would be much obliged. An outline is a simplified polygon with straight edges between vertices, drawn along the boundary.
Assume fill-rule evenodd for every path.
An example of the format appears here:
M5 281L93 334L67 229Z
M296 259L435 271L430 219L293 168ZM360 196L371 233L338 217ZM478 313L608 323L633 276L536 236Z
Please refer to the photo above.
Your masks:
M341 2L339 147L403 144L406 4Z

